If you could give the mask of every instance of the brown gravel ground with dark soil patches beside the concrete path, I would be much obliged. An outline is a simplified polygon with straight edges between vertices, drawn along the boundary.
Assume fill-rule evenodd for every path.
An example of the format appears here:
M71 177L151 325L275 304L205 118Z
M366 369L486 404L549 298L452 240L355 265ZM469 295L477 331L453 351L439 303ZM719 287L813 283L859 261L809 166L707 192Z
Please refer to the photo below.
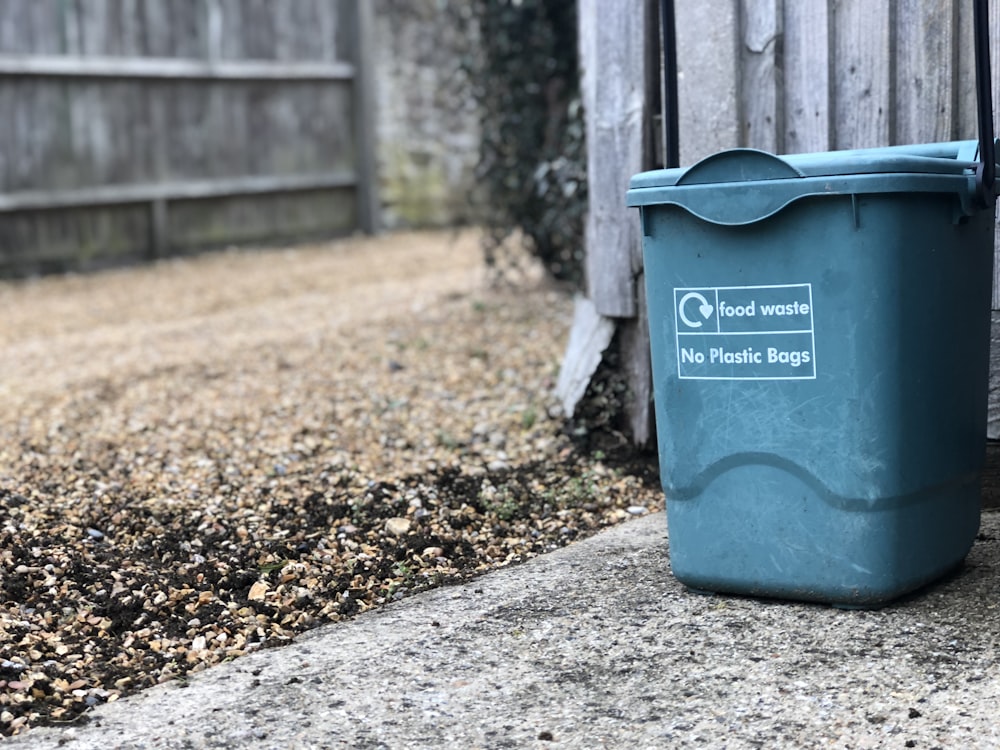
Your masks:
M474 232L0 284L0 734L661 507L571 310Z

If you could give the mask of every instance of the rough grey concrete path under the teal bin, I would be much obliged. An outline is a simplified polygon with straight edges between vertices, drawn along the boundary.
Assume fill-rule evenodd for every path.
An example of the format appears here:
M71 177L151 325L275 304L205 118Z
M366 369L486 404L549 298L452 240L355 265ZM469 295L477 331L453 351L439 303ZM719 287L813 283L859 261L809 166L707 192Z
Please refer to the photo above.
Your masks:
M662 514L42 728L24 748L998 748L1000 513L876 612L686 592Z

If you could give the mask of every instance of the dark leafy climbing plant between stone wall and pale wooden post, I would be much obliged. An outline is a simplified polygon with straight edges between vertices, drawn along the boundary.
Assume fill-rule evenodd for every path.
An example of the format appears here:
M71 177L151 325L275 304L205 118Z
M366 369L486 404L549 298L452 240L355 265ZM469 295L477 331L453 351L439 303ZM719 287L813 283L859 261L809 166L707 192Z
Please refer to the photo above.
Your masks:
M586 148L576 0L452 3L470 24L465 68L481 117L476 214L488 265L503 276L518 245L581 286Z

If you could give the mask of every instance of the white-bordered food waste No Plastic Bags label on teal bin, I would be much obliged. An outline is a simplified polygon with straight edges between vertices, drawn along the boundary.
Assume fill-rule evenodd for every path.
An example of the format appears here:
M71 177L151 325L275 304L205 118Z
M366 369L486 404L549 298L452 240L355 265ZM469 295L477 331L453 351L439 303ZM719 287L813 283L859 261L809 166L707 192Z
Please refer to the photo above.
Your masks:
M674 289L682 380L814 380L812 284Z

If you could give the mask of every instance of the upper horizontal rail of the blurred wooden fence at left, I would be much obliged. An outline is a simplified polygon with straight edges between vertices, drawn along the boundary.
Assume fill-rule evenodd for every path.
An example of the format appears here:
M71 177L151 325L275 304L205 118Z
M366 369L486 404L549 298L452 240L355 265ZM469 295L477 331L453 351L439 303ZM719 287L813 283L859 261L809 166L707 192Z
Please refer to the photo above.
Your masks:
M348 81L355 69L336 61L269 62L169 57L0 55L0 76L198 79L213 81Z

